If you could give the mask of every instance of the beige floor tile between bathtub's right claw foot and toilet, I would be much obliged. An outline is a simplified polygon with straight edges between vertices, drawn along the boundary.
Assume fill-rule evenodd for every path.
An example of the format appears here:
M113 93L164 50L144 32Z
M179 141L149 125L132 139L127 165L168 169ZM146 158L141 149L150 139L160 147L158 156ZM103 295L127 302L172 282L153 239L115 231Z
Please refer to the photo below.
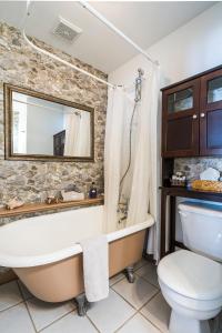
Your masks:
M135 276L134 283L129 283L127 279L115 283L112 289L124 297L137 310L144 305L154 294L158 289L148 283L144 279Z

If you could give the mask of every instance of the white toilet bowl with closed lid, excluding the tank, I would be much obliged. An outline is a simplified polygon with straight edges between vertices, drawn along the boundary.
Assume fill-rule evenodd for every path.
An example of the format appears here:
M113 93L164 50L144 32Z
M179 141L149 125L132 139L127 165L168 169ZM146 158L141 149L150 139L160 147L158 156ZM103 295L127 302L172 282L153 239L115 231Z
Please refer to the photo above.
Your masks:
M172 309L170 333L210 333L208 320L222 309L222 265L181 250L161 260L158 276Z

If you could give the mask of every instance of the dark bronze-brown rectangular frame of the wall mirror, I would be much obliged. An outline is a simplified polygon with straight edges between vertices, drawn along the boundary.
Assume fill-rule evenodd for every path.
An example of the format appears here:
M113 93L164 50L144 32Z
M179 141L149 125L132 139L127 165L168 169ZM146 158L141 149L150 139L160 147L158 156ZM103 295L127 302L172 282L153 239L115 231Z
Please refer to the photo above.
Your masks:
M54 157L46 154L18 154L13 153L13 129L12 129L12 92L20 92L34 98L43 99L50 102L56 102L62 105L77 108L90 112L90 130L91 130L91 149L90 157ZM37 92L30 89L16 87L12 84L3 84L4 95L4 159L17 161L54 161L54 162L94 162L94 109L65 101L42 92Z

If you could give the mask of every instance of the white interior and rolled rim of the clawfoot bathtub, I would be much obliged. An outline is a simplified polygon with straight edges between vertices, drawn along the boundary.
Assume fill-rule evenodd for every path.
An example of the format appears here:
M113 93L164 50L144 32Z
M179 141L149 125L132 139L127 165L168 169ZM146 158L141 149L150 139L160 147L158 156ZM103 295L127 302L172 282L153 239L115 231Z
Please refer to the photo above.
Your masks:
M31 268L82 252L79 242L103 232L103 205L22 219L0 228L0 265ZM150 228L147 221L107 234L108 242Z

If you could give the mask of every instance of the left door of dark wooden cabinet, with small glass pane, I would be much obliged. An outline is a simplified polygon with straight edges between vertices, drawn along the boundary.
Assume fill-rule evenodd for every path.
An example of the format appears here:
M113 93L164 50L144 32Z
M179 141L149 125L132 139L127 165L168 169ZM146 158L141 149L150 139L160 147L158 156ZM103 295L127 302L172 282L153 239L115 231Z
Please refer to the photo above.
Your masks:
M199 79L163 91L163 157L199 154Z

